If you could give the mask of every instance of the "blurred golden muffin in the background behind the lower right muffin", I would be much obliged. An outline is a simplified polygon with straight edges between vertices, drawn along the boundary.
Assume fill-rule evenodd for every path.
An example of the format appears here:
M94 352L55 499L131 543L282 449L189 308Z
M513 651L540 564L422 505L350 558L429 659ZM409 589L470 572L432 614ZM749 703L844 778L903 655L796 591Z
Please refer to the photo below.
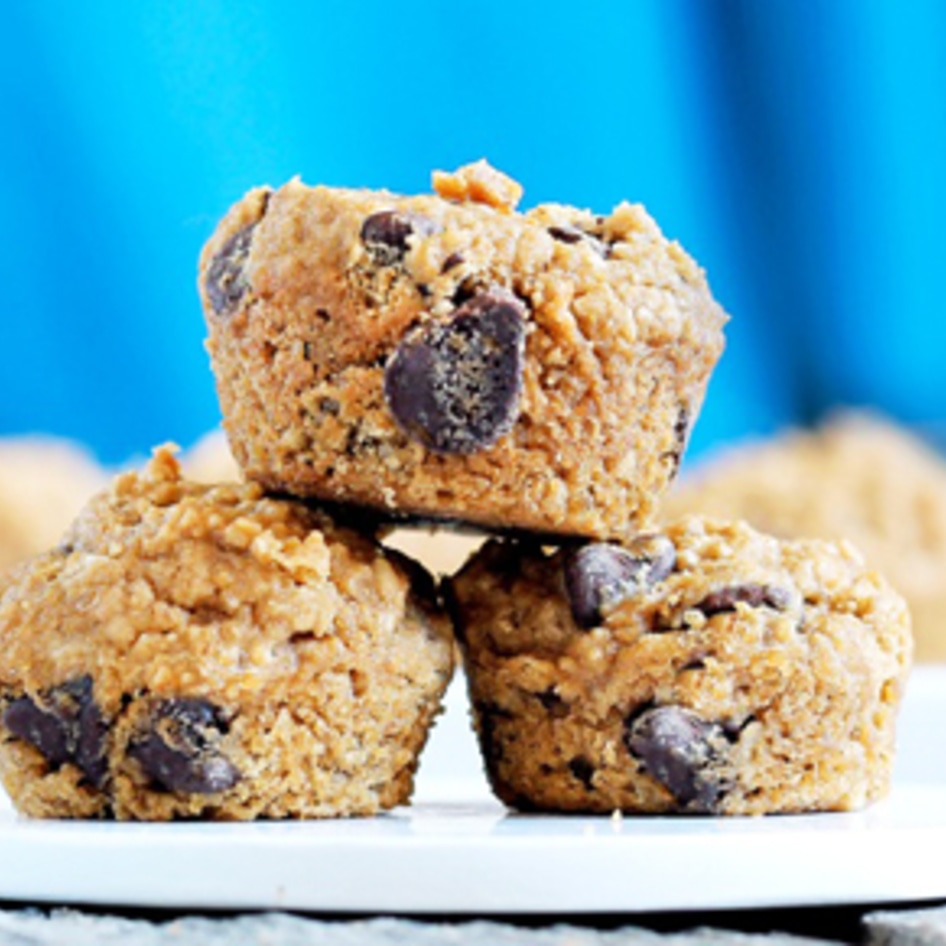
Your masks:
M693 512L850 540L907 599L915 659L946 661L946 461L902 427L844 411L730 448L688 470L661 517Z

